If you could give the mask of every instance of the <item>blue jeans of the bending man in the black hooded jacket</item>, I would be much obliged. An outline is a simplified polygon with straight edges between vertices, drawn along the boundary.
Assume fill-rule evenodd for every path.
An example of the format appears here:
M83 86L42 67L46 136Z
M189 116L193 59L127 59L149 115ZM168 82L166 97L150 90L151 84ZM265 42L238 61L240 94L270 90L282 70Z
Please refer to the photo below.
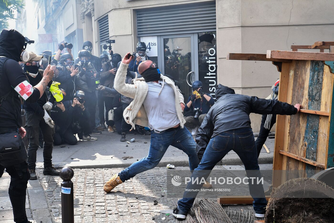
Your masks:
M229 151L233 150L241 159L246 170L260 170L258 165L258 153L255 146L253 131L251 128L241 128L222 132L210 139L209 144L203 154L203 158L198 167L193 171L191 177L207 177L217 162L219 162ZM203 171L207 175L203 176ZM246 171L247 172L247 171ZM249 171L247 177L260 177L260 171ZM267 200L262 184L254 184L249 182L249 192L253 197L253 208L255 213L264 214L266 212ZM187 189L201 189L203 184L188 183ZM192 195L194 192L192 192ZM197 193L196 193L197 194ZM261 195L261 196L256 196ZM189 196L190 197L190 196ZM187 192L183 194L183 198L178 201L178 210L187 214L192 207L195 198L187 197ZM260 197L260 198L259 198Z

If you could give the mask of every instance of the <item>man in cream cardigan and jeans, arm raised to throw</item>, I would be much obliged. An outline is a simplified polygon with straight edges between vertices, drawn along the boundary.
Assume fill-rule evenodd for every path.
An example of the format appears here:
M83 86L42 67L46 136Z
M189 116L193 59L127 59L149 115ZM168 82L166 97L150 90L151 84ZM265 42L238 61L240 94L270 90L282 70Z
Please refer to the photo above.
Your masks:
M138 67L142 78L134 80L134 84L126 84L124 80L131 59L130 53L122 59L114 87L122 95L134 98L123 113L124 119L133 128L135 124L149 127L151 145L147 157L116 173L105 183L103 189L107 193L136 174L158 165L170 145L188 155L191 170L199 164L196 143L183 126L183 95L174 82L161 75L157 65L150 60L142 62Z

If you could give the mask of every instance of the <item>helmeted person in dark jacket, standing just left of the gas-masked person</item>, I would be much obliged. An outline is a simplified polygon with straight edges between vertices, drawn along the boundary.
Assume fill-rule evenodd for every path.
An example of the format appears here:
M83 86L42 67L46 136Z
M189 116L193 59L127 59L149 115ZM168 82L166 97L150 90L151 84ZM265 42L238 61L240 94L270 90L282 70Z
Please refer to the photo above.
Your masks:
M79 73L79 68L74 68L73 58L67 53L60 56L59 65L56 68L59 73L54 74L54 81L59 82L59 88L67 92L64 100L72 100L72 95L75 93L75 75Z

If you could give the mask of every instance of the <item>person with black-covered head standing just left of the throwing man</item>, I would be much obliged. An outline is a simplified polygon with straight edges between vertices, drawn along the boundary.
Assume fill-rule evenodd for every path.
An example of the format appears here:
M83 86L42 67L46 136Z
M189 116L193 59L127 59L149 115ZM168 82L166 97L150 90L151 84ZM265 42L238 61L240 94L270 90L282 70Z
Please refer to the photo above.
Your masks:
M108 55L107 55L108 56ZM106 63L103 64L100 77L101 77L101 85L113 88L114 86L114 79L117 72L117 65L119 62L121 62L122 57L119 54L113 54L111 57L111 60L108 60ZM113 133L114 130L114 121L109 119L109 116L111 116L112 109L113 109L113 100L114 100L114 94L111 95L107 92L102 91L100 93L103 96L103 101L106 106L106 114L104 114L104 110L101 111L100 109L100 120L106 120L107 126L108 126L108 132ZM104 118L104 116L106 118Z

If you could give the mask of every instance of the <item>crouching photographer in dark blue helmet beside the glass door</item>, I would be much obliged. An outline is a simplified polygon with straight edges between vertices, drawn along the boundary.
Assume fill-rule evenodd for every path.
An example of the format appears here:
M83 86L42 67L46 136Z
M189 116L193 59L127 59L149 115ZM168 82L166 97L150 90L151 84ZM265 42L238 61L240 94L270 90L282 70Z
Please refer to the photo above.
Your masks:
M192 90L193 94L189 96L184 108L184 112L190 111L188 114L191 113L191 116L184 118L186 120L184 126L188 130L192 129L191 135L196 135L197 128L202 124L206 113L214 104L214 99L210 94L203 92L201 81L194 81Z

